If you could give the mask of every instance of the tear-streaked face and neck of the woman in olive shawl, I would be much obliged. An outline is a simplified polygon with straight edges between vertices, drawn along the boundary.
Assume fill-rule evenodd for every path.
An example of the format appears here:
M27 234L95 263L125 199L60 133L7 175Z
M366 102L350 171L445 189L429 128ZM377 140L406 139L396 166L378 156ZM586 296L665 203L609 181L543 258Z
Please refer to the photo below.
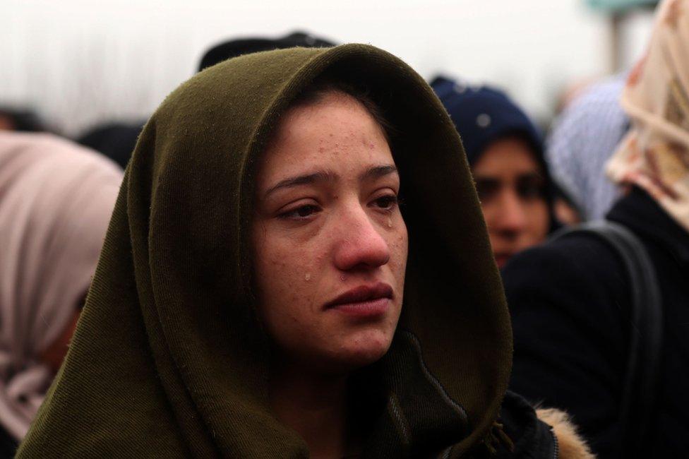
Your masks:
M407 263L399 190L383 129L344 93L289 109L262 157L252 237L258 314L276 355L270 402L314 458L357 451L347 374L393 340ZM329 306L361 287L388 293Z

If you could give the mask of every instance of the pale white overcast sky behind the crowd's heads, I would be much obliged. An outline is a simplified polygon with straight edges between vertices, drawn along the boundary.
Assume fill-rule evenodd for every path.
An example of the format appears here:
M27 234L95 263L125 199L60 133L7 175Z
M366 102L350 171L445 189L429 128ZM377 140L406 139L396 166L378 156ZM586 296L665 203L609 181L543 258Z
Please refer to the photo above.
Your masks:
M627 21L623 63L650 22ZM582 0L0 0L0 105L35 107L67 135L145 118L210 45L295 29L374 44L426 78L499 85L539 119L563 85L609 71L606 18Z

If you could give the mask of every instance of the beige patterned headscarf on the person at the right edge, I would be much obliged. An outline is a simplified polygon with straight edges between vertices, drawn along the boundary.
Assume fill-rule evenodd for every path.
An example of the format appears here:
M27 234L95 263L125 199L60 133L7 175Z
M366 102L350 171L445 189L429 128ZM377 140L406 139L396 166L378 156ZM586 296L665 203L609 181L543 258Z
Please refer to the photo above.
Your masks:
M689 231L689 0L660 4L621 104L633 128L607 165L609 177L645 189Z

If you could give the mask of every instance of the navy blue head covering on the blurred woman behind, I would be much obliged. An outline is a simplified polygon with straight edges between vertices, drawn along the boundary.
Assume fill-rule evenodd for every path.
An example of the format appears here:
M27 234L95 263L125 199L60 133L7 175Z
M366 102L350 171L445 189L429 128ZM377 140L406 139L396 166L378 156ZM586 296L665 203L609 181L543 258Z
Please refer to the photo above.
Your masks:
M431 87L443 102L462 138L470 165L498 138L520 136L544 165L543 141L536 126L512 100L487 86L469 86L439 76Z

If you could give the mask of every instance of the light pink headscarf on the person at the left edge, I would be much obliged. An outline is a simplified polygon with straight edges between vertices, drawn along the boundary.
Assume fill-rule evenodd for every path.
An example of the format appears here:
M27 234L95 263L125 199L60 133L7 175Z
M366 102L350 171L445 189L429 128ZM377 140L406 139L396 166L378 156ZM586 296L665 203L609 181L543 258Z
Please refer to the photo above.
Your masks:
M0 131L0 424L18 440L54 376L37 355L88 290L121 180L91 150Z

